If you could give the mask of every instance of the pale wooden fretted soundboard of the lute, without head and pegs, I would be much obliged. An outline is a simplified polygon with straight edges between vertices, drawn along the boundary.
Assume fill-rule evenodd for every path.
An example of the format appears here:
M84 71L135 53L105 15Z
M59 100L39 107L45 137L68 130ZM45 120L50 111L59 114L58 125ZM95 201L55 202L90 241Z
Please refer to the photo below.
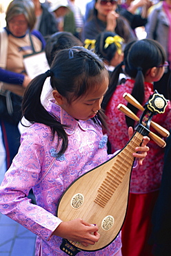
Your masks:
M97 224L99 241L84 247L70 241L81 250L100 250L119 234L128 204L133 152L143 136L136 132L127 145L109 161L90 170L70 185L61 197L57 217L63 221L81 218Z

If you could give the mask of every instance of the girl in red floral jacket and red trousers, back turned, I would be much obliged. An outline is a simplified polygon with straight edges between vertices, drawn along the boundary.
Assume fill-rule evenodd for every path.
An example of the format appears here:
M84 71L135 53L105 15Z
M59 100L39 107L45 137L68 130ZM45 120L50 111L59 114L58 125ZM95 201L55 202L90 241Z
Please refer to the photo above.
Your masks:
M108 117L106 132L112 152L123 147L128 138L126 134L128 127L134 128L137 125L137 122L117 109L118 104L128 104L128 108L139 118L141 117L141 111L126 102L123 93L130 93L144 106L150 95L154 93L153 82L161 79L165 66L168 65L165 62L163 47L153 39L134 40L125 46L123 53L124 60L115 67L109 90L105 93L101 104ZM123 67L128 77L125 83L118 85L118 77ZM152 120L165 129L170 129L170 101L165 112L153 116ZM117 127L117 130L114 131L114 127ZM150 130L156 133L151 127ZM152 244L150 244L152 211L161 185L164 149L153 140L150 140L149 145L150 154L145 158L143 166L134 168L131 174L128 209L121 230L123 256L152 256Z

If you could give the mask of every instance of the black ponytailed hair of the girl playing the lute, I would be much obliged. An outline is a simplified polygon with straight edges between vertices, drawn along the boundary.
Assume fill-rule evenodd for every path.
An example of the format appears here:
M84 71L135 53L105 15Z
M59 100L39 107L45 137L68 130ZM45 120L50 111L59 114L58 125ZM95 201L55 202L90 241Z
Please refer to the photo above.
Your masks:
M104 75L108 76L108 71L96 54L81 46L75 46L61 50L55 55L48 74L52 89L57 90L70 103L99 86ZM30 82L23 95L22 112L31 123L48 125L53 136L57 133L59 140L62 140L60 156L66 152L68 136L64 130L66 126L61 125L61 122L41 104L41 91L47 76L47 73L43 73ZM105 126L104 117L103 111L99 110L92 120L97 125Z

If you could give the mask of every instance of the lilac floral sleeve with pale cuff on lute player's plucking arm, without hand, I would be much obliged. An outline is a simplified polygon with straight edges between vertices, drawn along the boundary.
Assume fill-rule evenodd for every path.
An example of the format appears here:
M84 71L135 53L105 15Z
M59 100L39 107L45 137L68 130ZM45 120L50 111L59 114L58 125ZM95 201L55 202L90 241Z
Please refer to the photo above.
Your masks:
M46 165L41 129L40 125L38 131L29 128L21 136L19 152L0 186L0 211L48 241L61 220L26 197L42 178L41 166Z

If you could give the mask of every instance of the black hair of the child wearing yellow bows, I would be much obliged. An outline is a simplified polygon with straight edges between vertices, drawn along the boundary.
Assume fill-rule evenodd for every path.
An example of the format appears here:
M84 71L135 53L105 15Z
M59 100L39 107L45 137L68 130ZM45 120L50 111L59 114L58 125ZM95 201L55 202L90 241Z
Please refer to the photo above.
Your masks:
M108 37L114 37L115 35L117 34L109 31L102 32L97 36L96 39L95 53L97 53L97 55L99 55L99 57L101 57L103 60L107 60L109 63L117 52L117 45L113 43L107 48L104 48L105 39Z

